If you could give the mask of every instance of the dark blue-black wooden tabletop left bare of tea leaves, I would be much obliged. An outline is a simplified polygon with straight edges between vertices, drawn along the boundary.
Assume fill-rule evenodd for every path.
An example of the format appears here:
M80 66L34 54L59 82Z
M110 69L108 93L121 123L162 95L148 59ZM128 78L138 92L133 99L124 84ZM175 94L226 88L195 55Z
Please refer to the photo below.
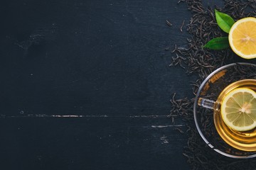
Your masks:
M0 169L189 169L168 117L196 80L169 67L177 2L1 1Z

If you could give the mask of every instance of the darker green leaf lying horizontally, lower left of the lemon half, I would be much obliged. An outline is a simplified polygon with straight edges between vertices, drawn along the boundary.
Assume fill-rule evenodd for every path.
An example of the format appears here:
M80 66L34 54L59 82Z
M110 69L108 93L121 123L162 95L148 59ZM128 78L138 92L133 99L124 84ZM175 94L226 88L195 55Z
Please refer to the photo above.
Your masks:
M223 50L225 48L230 47L228 42L228 37L220 37L220 38L213 38L206 45L203 47L209 48L211 50Z

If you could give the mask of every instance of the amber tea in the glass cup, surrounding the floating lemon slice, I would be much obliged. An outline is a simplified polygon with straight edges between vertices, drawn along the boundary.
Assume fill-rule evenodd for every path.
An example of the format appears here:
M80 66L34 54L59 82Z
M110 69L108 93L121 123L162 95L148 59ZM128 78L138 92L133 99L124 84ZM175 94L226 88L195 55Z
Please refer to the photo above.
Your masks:
M243 79L235 81L235 83L230 84L220 93L220 96L218 96L218 99L215 102L215 109L213 113L214 124L218 134L226 143L228 143L228 145L244 151L256 151L256 128L244 132L232 130L225 125L220 115L220 106L223 98L225 98L225 96L233 89L240 87L256 91L256 80Z

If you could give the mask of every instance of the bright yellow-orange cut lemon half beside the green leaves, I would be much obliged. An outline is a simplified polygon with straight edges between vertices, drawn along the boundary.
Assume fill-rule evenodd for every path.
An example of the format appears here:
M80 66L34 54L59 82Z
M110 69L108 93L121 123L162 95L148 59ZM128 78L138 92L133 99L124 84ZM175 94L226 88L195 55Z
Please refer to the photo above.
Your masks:
M228 41L231 49L240 57L256 57L256 18L247 17L236 21L230 28Z

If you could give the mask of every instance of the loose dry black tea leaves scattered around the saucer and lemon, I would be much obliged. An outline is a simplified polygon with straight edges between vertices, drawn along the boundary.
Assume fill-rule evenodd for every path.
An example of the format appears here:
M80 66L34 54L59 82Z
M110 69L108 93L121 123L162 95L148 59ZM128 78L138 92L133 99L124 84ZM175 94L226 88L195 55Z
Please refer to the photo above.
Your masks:
M178 1L183 2L183 1ZM186 0L188 9L193 13L190 23L183 26L183 30L187 28L191 38L188 38L188 47L174 47L172 51L173 61L171 66L180 65L186 69L188 74L198 76L193 82L193 94L196 94L198 86L201 82L218 67L233 62L238 62L232 50L208 50L203 45L218 37L225 37L227 33L223 33L215 21L215 13L213 8L203 6L202 1ZM248 16L256 16L256 1L238 1L225 0L224 6L215 8L222 12L233 16L237 21L240 18ZM247 62L243 60L242 62ZM250 62L252 62L250 60ZM184 148L183 155L187 157L191 169L256 169L256 159L231 159L214 152L201 139L193 122L193 98L188 99L171 99L172 110L170 116L180 116L187 123L186 134L188 135L188 143Z

